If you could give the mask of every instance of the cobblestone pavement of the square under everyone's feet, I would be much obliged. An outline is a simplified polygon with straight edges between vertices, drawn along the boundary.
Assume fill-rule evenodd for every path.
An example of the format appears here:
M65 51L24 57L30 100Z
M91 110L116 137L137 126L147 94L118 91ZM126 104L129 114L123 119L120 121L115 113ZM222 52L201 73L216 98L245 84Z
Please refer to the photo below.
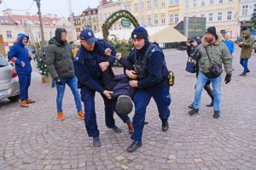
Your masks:
M131 140L126 125L115 116L123 133L113 133L105 126L103 102L97 94L102 147L93 148L84 122L76 118L69 88L63 101L67 119L60 122L56 120L55 88L42 84L38 73L33 72L30 94L36 104L21 109L19 103L0 101L0 169L256 169L256 55L249 60L251 73L239 77L241 65L236 49L236 71L230 84L225 85L223 80L221 116L215 120L212 108L206 107L210 102L206 92L200 114L187 114L187 106L194 98L195 75L184 71L185 52L166 53L167 65L177 77L171 88L168 132L161 132L152 99L143 147L127 153L125 149Z

